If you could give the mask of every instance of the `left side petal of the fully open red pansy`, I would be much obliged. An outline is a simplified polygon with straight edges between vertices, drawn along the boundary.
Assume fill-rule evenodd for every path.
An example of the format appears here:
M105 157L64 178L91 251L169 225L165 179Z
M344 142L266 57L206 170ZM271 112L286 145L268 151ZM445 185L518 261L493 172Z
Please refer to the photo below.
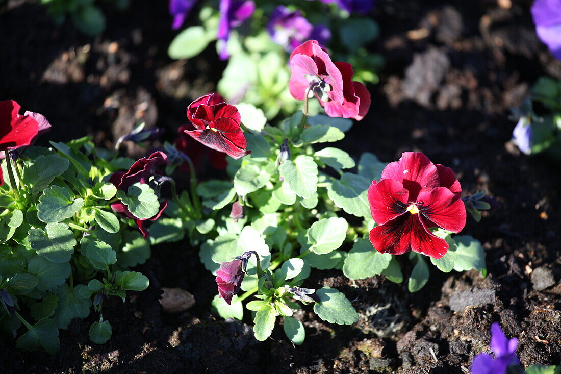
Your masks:
M370 185L368 201L376 224L385 225L407 211L409 191L398 180L384 179Z

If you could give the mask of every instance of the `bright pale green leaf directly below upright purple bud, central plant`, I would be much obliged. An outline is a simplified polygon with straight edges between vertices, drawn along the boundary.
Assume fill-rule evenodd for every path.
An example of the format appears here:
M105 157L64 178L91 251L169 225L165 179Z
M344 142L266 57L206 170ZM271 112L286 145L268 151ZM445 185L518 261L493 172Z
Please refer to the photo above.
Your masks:
M309 199L318 190L318 164L310 156L298 156L279 166L280 176L301 198Z

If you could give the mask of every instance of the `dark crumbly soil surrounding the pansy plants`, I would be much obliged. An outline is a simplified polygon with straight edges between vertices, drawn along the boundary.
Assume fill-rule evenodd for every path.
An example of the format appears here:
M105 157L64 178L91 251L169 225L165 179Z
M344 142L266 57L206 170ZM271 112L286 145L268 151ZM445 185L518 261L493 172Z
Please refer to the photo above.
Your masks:
M463 373L488 349L495 321L519 338L524 366L561 364L560 168L519 154L509 141L509 108L539 76L561 77L561 63L536 38L529 6L380 0L381 35L371 47L387 67L370 87L369 116L341 145L384 161L421 150L453 167L466 194L484 189L496 197L499 208L465 229L484 244L486 278L431 272L429 284L409 294L383 276L349 281L340 271L318 272L309 286L344 291L360 321L330 325L307 309L297 315L307 327L304 345L293 346L279 329L257 343L250 326L211 314L213 277L196 249L175 243L154 248L139 267L150 277L147 291L107 306L109 343L90 343L89 320L61 332L54 356L19 352L3 337L1 371ZM91 134L111 146L139 120L164 127L171 139L186 105L213 89L223 64L212 48L169 60L170 24L165 2L136 0L126 13L110 12L107 31L90 39L70 22L55 27L36 3L9 0L0 8L0 98L43 113L58 141ZM190 291L195 306L163 313L161 287Z

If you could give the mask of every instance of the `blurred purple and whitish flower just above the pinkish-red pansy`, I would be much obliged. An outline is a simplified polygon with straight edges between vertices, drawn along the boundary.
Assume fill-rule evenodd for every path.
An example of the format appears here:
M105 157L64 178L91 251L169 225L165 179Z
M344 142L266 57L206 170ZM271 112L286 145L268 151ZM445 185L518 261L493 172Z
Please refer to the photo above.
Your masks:
M331 32L323 25L312 26L300 11L290 11L285 6L278 6L273 11L267 30L274 42L283 45L292 52L306 40L316 39L325 45L331 38Z

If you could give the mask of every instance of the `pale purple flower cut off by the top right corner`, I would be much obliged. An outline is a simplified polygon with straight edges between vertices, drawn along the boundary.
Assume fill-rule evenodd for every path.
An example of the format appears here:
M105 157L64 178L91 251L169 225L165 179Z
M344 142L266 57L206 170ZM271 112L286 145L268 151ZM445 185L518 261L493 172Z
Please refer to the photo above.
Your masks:
M561 60L561 0L536 0L531 12L537 36Z

